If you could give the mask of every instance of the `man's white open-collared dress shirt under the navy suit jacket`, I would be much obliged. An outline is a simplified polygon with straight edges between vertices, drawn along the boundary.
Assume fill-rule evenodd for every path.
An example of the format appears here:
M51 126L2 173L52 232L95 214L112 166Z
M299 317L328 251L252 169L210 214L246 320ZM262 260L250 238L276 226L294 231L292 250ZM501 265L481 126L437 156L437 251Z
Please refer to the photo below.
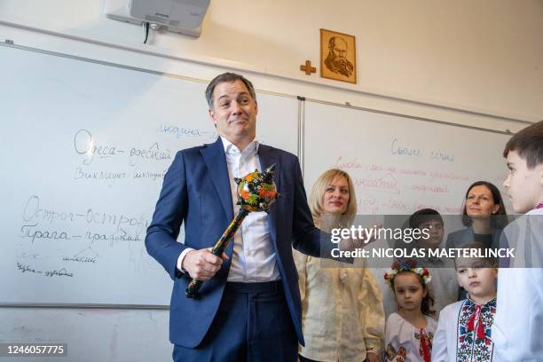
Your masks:
M258 157L257 140L251 142L242 152L226 138L221 137L226 155L228 178L232 191L234 216L240 211L237 185L233 177L242 178L255 169L261 170ZM279 279L279 269L275 263L275 250L271 244L268 214L264 211L251 212L245 217L233 238L232 264L228 281L262 282ZM192 248L186 248L177 259L177 269L181 269L185 255Z

